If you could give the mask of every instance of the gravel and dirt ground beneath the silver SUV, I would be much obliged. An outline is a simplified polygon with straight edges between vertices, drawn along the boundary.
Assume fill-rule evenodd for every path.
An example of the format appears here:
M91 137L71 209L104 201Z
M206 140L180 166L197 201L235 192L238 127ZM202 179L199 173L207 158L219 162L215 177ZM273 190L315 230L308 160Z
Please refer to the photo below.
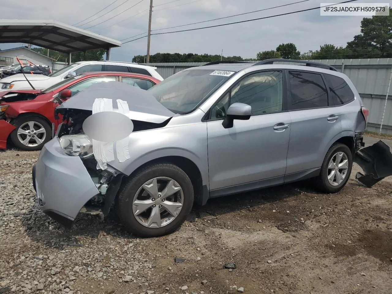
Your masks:
M38 155L0 152L0 293L392 293L392 177L368 189L355 165L335 195L306 181L217 198L138 239L115 216L66 230L40 212Z

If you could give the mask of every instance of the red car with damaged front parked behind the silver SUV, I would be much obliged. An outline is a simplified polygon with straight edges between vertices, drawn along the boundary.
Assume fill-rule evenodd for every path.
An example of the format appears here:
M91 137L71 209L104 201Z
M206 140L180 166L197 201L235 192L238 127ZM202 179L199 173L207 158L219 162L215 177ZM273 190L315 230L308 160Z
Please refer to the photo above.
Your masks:
M93 83L110 81L129 83L144 90L160 82L143 74L94 72L68 78L43 91L1 92L0 149L5 149L7 142L11 141L22 150L41 150L61 123L61 117L54 118L56 106Z

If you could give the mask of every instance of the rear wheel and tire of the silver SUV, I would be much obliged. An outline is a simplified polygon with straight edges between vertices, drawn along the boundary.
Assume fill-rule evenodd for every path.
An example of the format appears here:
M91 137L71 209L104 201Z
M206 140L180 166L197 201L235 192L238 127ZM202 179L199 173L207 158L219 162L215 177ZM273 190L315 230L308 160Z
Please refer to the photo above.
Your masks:
M339 192L350 178L352 154L347 145L335 143L330 147L321 165L318 187L322 192Z

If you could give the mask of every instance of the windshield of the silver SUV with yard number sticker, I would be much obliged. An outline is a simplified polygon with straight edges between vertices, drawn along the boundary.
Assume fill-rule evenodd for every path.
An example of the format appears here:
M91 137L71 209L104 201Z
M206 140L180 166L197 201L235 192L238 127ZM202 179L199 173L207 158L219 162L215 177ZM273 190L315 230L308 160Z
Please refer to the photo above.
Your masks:
M147 91L167 109L185 114L211 96L232 74L233 71L190 69L173 74Z

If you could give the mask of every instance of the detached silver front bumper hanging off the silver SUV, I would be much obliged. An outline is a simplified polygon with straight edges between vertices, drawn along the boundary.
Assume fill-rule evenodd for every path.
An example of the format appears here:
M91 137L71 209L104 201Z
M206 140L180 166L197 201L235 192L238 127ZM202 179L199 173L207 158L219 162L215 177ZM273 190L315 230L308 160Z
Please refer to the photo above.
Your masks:
M57 138L42 148L33 183L40 209L67 228L85 203L99 194L82 160L65 154Z

